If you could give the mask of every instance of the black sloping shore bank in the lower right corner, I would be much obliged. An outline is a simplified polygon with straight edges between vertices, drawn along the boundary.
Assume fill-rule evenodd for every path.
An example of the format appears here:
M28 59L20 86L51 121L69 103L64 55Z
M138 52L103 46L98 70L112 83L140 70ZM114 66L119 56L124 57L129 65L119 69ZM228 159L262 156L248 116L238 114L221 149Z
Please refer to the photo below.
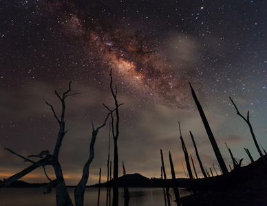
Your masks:
M267 159L267 157L265 156ZM267 205L267 163L263 159L235 168L224 176L197 179L195 196L181 198L182 205Z

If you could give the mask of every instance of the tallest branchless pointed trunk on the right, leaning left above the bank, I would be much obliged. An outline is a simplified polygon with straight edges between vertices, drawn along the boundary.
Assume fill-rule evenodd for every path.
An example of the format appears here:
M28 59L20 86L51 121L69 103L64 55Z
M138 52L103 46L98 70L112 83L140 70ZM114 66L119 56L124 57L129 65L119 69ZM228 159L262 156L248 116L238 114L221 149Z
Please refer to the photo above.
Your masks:
M219 148L217 146L217 143L216 143L215 138L213 136L213 133L211 131L211 127L209 126L209 122L206 119L206 115L205 115L205 113L203 111L203 108L202 108L200 102L197 100L197 95L195 95L195 91L193 90L193 87L191 86L190 83L189 83L189 85L191 87L191 93L193 95L193 99L195 100L195 104L197 105L197 109L198 109L198 111L200 113L200 117L201 117L202 122L204 124L204 127L206 129L206 133L207 133L207 135L209 137L209 140L211 141L211 146L213 147L213 150L215 152L215 156L217 158L217 161L220 164L220 167L222 169L222 173L223 174L227 174L228 170L226 168L226 164L224 163L224 159L222 158L222 154L221 154L221 152L220 152L220 150L219 150Z

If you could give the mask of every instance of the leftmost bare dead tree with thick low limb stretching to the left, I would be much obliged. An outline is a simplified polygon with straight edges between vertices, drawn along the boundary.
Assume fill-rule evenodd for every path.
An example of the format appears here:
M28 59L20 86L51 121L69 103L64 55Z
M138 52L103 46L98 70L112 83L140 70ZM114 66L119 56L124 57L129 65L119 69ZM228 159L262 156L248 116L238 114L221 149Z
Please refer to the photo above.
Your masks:
M23 159L30 161L32 165L30 165L28 168L25 168L21 172L14 174L13 176L10 176L10 178L6 179L6 181L3 181L0 184L0 187L6 187L10 185L10 183L17 181L18 179L21 179L23 176L26 174L29 174L33 170L39 167L44 167L45 165L52 165L54 168L54 173L56 175L56 179L54 181L50 181L48 185L47 191L50 192L52 189L52 186L56 185L56 205L57 206L72 206L72 201L70 199L70 195L67 192L67 187L65 185L65 180L63 177L63 172L61 169L61 164L58 161L58 155L60 152L60 148L62 145L63 138L65 137L65 134L67 133L67 130L65 130L65 98L71 96L71 95L76 95L78 93L73 93L71 94L71 83L69 83L69 89L63 93L63 95L59 95L57 91L55 91L56 96L58 97L59 100L61 100L61 117L58 118L56 115L56 112L54 111L54 107L49 104L48 102L45 101L45 103L50 106L54 117L56 121L58 122L59 130L58 130L58 135L56 138L56 144L54 146L54 151L53 154L50 155L50 152L48 150L40 152L39 155L30 155L30 157L41 157L41 160L39 161L30 161L25 157L22 157ZM8 149L9 151L12 151ZM13 154L17 154L16 152L12 152ZM17 155L20 156L20 155ZM45 173L47 176L47 174Z

